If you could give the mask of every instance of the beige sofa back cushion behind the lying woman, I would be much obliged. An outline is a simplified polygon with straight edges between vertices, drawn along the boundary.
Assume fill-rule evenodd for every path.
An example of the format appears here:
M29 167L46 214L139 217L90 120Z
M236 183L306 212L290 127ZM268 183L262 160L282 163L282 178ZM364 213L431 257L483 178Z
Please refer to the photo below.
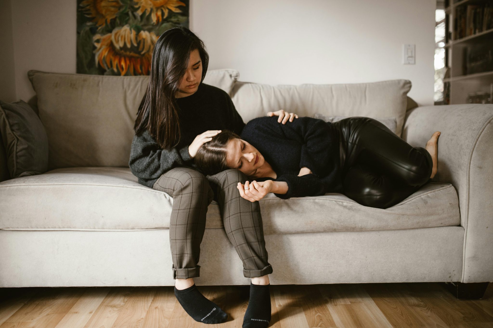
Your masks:
M280 109L299 116L365 116L395 118L400 137L406 116L409 80L351 84L277 85L236 82L232 92L236 110L245 122Z

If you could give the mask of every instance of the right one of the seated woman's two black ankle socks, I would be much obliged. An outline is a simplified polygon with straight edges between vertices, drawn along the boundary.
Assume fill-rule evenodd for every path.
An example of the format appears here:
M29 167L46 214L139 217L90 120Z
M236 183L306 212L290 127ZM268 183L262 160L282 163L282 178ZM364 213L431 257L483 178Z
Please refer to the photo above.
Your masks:
M243 318L243 328L267 328L271 321L271 293L269 285L250 282L250 300Z

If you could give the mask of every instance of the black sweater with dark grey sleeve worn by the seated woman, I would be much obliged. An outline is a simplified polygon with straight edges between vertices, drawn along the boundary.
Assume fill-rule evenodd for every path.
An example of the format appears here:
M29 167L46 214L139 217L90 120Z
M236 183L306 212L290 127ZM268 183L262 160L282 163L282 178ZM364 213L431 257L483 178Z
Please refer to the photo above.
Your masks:
M181 138L172 149L161 149L147 130L134 136L129 167L139 183L152 188L162 174L176 166L197 168L188 146L207 130L231 130L240 134L245 123L235 109L229 94L201 83L192 95L176 99L179 107ZM279 123L278 123L279 124Z

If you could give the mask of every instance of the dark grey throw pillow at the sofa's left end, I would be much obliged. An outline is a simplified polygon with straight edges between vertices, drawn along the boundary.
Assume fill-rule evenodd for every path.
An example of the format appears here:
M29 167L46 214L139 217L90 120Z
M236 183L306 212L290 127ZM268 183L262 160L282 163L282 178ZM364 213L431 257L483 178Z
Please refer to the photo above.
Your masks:
M11 179L47 171L48 137L31 106L0 101L0 133Z

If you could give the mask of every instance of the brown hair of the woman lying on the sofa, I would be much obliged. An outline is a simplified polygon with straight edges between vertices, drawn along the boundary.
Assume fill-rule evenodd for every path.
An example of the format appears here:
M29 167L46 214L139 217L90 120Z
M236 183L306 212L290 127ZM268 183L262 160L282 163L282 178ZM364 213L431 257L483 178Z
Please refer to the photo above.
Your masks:
M211 141L200 146L194 157L199 171L209 176L227 170L226 147L235 138L240 139L240 136L229 130L222 130Z

